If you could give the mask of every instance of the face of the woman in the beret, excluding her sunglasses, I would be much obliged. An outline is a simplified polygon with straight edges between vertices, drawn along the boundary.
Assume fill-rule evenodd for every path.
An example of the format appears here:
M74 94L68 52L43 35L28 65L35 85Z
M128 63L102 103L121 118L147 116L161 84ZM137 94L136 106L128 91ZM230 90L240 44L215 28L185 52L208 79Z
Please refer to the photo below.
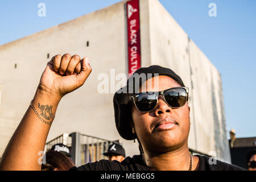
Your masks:
M140 92L162 91L180 86L168 76L153 77L144 82L144 84L146 86L142 85ZM178 109L172 109L164 102L163 96L159 96L158 105L148 113L142 113L133 105L131 113L134 129L142 143L143 150L168 152L187 144L189 111L187 103Z

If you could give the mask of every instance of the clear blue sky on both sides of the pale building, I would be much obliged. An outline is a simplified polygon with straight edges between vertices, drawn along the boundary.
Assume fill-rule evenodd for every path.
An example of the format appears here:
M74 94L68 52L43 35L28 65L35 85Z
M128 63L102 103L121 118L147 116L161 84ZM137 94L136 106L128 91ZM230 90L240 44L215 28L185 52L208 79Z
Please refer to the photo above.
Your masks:
M0 1L0 45L119 1ZM41 2L46 4L43 18L38 16ZM256 1L160 2L220 71L227 130L234 128L237 137L256 137ZM216 17L208 15L209 3L216 3Z

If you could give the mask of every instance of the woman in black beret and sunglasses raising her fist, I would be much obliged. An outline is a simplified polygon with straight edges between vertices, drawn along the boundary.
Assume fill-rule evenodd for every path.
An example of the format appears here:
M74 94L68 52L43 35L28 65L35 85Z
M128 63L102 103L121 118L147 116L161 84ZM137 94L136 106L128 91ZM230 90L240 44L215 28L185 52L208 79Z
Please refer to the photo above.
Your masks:
M82 86L90 75L87 57L57 55L47 64L31 102L2 156L1 170L40 170L38 154L61 98ZM158 65L138 69L114 95L118 133L138 140L140 155L73 167L71 170L243 170L206 156L191 155L189 89L174 71ZM41 113L40 113L41 112ZM88 113L89 114L89 113Z

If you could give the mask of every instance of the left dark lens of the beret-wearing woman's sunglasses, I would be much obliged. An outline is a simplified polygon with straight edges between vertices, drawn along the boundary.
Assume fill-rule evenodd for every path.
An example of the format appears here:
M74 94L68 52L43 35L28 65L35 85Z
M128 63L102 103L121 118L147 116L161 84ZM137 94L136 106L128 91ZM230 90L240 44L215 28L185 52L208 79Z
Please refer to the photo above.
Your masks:
M148 112L155 108L158 97L153 93L140 93L135 96L134 101L138 110Z

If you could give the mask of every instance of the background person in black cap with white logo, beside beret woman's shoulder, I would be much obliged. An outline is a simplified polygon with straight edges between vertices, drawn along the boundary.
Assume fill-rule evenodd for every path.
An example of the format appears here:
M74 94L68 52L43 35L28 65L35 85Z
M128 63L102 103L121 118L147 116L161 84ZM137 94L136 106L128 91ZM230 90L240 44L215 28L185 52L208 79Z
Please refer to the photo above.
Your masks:
M121 144L113 143L103 155L108 156L110 161L117 160L121 163L125 159L125 149Z

